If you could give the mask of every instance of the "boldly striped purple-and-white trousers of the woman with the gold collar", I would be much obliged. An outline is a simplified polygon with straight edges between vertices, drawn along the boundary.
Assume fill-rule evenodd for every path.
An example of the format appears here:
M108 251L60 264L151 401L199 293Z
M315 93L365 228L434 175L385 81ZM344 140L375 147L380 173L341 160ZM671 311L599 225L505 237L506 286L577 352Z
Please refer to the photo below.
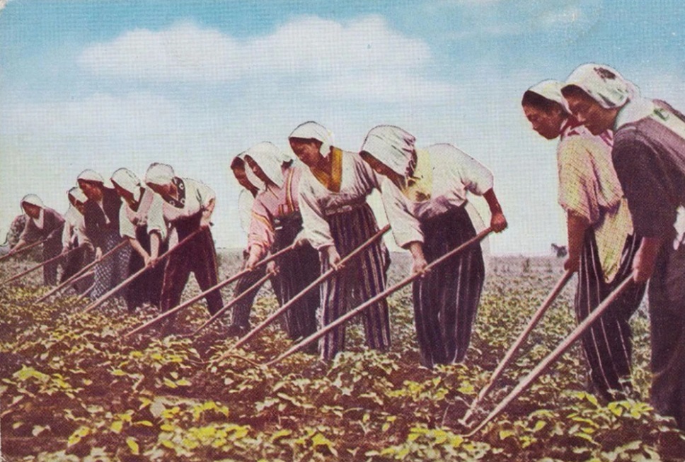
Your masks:
M376 218L369 205L364 204L348 212L327 218L335 249L341 257L352 252L378 231ZM367 247L349 261L345 268L321 285L321 306L317 312L319 328L330 324L365 300L384 291L388 264L387 249L382 240ZM321 256L321 273L328 271L328 259ZM362 312L367 346L373 349L390 347L390 317L388 303L379 303ZM345 326L340 326L319 340L321 359L330 361L345 348Z

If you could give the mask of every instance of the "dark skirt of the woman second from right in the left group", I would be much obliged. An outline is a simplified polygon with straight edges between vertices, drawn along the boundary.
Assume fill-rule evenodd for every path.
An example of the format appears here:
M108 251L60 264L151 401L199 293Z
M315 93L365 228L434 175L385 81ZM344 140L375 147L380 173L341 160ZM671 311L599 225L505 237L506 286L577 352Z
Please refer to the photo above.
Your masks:
M136 227L136 239L150 253L150 235L147 233L146 226ZM166 252L168 242L160 242L159 255ZM145 266L143 257L134 249L131 251L129 259L128 273L134 274ZM135 278L126 288L126 306L129 311L135 310L144 303L159 307L159 298L162 291L162 281L164 279L164 265L157 264L154 268L148 269L143 274Z

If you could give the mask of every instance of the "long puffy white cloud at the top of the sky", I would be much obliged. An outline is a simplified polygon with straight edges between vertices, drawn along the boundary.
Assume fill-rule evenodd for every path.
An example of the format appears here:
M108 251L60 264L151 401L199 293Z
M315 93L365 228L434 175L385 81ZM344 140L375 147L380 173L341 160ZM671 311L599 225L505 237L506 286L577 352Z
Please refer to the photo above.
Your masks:
M343 25L307 16L271 35L241 41L194 23L132 30L88 47L84 68L104 76L161 81L231 81L267 74L384 72L421 69L429 47L390 30L379 16Z

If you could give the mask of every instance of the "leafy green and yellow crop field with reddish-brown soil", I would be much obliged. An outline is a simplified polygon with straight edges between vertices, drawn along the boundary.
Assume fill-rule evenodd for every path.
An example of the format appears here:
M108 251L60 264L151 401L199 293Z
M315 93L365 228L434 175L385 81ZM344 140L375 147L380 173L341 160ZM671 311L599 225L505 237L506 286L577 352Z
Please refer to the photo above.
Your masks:
M391 281L409 261L393 255ZM0 278L31 261L0 264ZM221 255L221 277L238 271ZM273 326L221 359L235 342L207 320L204 303L157 328L122 339L156 315L121 300L82 314L87 301L62 295L33 304L38 274L0 289L0 435L6 461L683 461L685 440L647 404L649 320L633 318L636 394L598 402L585 393L578 347L482 432L460 423L532 312L562 274L562 259L500 257L488 264L464 364L419 366L410 288L391 296L393 347L364 347L348 327L347 351L331 364L297 353L263 366L292 343ZM192 283L184 299L197 293ZM484 417L575 326L575 282L563 291L494 392ZM224 303L229 300L224 291ZM277 308L270 288L253 325ZM643 401L644 400L644 401Z

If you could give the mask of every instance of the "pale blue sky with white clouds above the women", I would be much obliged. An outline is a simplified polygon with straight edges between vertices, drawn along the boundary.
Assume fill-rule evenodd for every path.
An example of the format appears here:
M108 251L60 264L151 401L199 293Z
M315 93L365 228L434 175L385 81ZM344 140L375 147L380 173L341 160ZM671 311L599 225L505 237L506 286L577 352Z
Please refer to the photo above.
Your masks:
M217 192L214 239L241 247L231 159L306 120L357 151L392 124L495 175L493 254L565 243L556 141L524 91L609 64L685 109L681 0L0 0L0 239L27 193L64 212L86 168L173 165ZM374 210L384 221L374 197ZM482 198L473 205L489 220Z

